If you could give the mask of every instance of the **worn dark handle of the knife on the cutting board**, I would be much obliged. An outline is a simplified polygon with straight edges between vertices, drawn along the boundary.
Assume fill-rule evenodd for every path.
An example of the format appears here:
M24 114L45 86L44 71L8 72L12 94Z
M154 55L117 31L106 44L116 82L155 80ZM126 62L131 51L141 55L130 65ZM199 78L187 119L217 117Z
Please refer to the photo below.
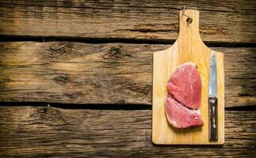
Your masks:
M209 97L209 141L218 139L218 99Z

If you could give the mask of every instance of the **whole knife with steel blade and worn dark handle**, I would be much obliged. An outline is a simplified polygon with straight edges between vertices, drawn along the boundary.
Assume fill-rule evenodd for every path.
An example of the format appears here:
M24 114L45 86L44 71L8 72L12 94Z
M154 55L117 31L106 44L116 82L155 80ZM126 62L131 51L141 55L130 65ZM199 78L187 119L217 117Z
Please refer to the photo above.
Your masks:
M218 98L217 98L217 72L215 52L212 52L209 70L209 141L218 139Z

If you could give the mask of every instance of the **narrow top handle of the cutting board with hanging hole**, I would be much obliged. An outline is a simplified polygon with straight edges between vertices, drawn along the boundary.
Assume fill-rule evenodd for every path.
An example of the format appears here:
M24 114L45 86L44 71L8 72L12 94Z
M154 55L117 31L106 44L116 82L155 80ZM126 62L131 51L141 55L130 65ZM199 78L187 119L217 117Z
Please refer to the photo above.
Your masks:
M196 44L199 44L199 46L203 45L203 47L205 47L205 44L202 42L199 32L198 10L183 9L179 12L179 37L177 40L180 43L187 45L187 47L194 45L194 42L196 42Z

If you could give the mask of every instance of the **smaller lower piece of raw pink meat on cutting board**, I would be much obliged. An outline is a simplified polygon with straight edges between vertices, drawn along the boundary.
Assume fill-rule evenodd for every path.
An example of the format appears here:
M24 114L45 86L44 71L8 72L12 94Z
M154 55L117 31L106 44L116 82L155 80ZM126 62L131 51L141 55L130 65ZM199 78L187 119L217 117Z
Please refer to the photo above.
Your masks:
M198 110L190 110L171 97L166 99L165 111L169 124L176 128L202 126L203 124Z

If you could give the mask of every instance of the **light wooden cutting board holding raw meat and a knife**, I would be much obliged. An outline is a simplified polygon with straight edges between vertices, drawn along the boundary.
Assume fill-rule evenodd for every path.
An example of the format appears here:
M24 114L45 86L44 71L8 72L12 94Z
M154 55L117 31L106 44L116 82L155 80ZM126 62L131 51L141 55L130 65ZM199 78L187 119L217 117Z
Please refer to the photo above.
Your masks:
M190 24L183 14L192 18ZM179 37L164 51L153 54L152 77L152 142L159 145L221 145L224 144L224 54L216 52L218 83L218 140L209 141L208 85L212 51L202 42L199 33L199 11L186 9L179 13ZM175 130L168 125L164 96L171 73L184 62L194 62L201 76L202 127Z

